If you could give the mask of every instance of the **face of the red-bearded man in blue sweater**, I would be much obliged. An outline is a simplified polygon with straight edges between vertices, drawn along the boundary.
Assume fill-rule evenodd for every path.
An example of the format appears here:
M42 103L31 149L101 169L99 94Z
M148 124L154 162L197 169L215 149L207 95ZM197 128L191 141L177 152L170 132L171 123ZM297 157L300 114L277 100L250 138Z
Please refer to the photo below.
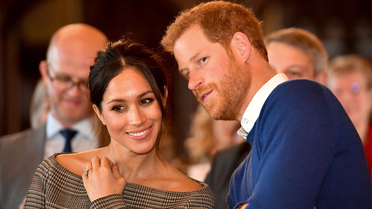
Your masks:
M232 54L232 53L230 53ZM174 57L188 87L214 119L235 120L250 86L250 74L194 26L175 42Z

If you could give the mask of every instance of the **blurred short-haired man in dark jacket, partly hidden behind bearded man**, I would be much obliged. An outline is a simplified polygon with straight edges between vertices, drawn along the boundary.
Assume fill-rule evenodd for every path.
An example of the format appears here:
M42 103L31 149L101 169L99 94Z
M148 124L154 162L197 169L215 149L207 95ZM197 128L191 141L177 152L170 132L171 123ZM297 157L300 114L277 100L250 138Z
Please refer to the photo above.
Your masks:
M269 64L277 73L285 73L290 80L305 78L325 84L328 54L314 33L301 28L285 28L265 36L264 42ZM213 159L205 183L216 197L216 209L228 208L226 196L230 177L250 150L251 145L243 142L218 152Z

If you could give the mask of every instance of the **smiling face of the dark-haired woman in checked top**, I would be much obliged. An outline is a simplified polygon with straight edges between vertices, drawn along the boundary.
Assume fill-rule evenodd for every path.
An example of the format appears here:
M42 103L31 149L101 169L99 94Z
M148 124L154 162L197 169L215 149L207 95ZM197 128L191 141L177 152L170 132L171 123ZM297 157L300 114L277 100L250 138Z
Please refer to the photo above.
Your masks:
M124 69L108 84L101 102L93 106L107 126L113 146L137 154L154 149L161 125L161 110L145 77L135 68Z

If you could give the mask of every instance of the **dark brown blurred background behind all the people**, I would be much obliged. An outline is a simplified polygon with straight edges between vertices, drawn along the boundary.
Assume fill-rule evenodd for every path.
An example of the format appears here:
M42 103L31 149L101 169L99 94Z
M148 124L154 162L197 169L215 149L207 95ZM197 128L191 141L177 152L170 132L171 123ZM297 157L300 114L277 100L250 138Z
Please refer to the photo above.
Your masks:
M49 38L61 26L88 23L109 39L128 34L160 49L167 25L199 0L1 0L0 2L0 135L29 128L29 106L40 78ZM263 21L264 35L281 28L308 29L322 39L330 58L356 53L372 59L371 0L236 0ZM176 62L173 70L173 128L177 153L187 137L196 99Z

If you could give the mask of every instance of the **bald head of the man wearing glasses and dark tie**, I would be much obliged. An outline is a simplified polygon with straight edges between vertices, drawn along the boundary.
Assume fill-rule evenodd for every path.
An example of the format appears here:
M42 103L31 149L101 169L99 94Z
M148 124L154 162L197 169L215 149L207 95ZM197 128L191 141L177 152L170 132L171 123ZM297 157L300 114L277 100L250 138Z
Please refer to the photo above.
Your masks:
M72 126L92 115L84 84L97 51L107 41L100 30L82 23L66 25L53 34L48 61L42 61L39 70L48 85L50 111L64 126Z

